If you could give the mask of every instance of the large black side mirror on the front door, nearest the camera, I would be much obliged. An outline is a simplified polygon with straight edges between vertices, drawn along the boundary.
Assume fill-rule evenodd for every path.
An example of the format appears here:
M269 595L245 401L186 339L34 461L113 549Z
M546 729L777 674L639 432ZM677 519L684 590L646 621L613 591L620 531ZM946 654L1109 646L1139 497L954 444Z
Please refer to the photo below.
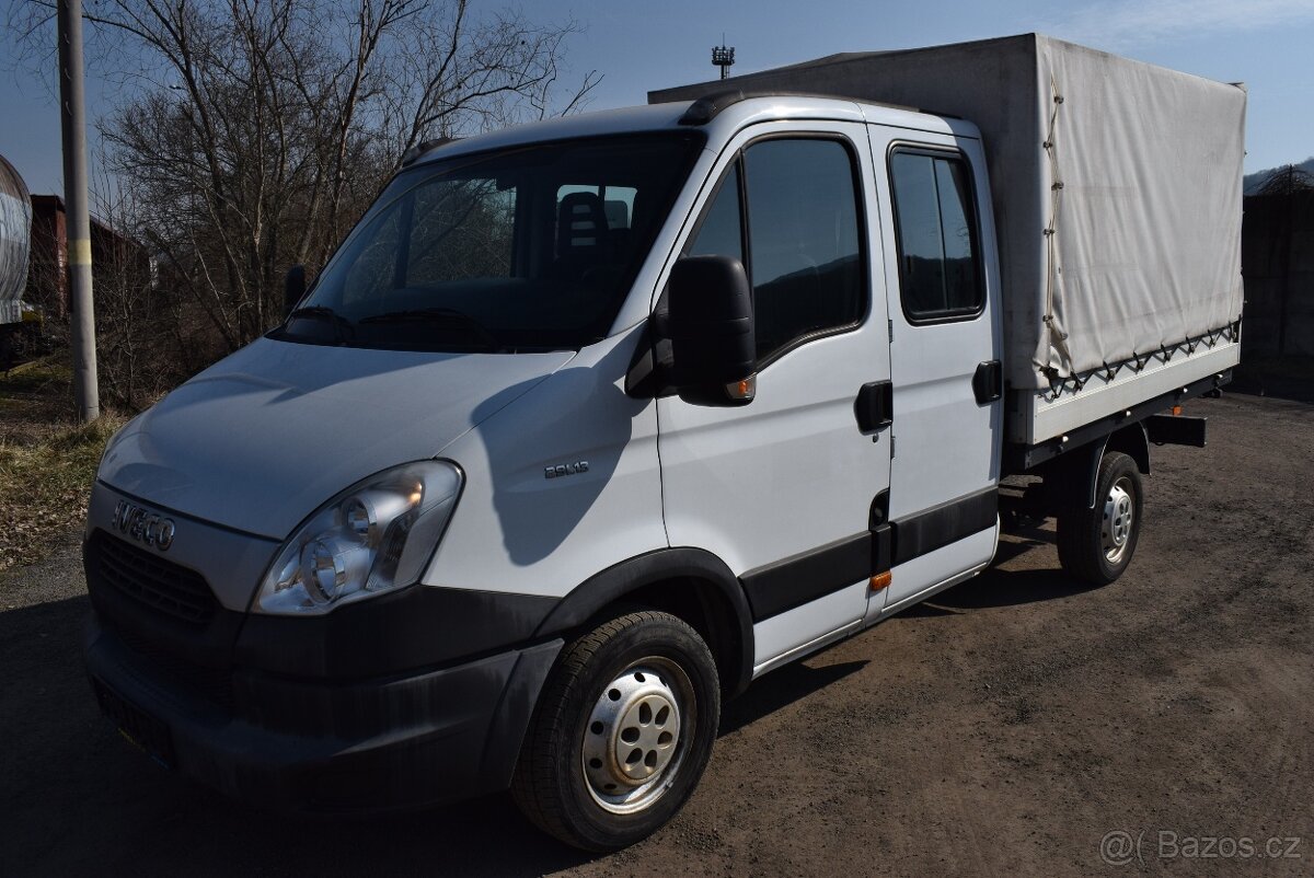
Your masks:
M737 406L757 390L753 289L731 256L686 256L668 292L671 384L694 405Z

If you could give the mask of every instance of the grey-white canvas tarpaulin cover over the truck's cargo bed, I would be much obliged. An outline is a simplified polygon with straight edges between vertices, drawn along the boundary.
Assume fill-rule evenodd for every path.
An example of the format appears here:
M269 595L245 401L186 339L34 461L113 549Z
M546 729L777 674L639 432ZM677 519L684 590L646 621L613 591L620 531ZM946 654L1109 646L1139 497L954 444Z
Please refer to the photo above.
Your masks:
M1239 85L1024 34L832 55L649 100L723 88L903 104L980 127L1014 388L1172 350L1240 317Z

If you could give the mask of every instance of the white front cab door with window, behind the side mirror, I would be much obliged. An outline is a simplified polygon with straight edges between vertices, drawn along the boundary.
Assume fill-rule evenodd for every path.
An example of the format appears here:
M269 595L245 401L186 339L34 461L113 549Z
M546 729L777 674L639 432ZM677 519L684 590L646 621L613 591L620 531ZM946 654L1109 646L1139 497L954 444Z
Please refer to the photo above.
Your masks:
M742 407L658 402L666 530L741 578L759 669L867 609L870 514L890 474L887 431L863 432L854 411L862 386L890 375L862 197L871 175L862 125L750 129L719 160L682 243L682 255L745 264L758 376Z

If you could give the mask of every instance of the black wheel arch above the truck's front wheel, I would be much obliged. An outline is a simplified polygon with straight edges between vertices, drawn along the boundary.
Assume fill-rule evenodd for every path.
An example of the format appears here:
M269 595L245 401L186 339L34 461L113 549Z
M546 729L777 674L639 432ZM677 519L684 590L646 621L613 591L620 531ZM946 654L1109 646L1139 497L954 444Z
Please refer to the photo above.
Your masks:
M576 586L535 636L581 631L622 605L641 605L683 619L712 651L725 697L748 686L753 674L753 616L738 580L711 552L666 548L620 561Z

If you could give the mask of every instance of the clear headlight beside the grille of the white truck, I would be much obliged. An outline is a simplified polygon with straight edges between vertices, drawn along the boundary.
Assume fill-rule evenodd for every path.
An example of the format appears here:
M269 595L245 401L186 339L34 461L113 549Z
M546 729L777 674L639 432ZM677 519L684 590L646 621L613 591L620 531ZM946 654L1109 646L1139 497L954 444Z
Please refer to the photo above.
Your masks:
M317 615L418 581L456 507L464 476L424 460L342 492L279 551L259 612Z

